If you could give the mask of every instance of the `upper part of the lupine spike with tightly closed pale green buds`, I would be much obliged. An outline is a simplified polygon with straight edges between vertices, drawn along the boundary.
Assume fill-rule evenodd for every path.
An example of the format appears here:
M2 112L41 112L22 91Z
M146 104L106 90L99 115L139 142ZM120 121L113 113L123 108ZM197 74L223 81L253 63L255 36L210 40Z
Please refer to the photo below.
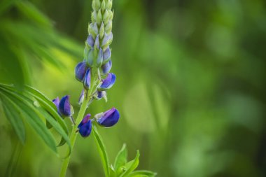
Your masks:
M111 0L92 1L92 22L89 24L89 36L86 40L84 59L88 66L101 68L102 73L111 69L111 50L113 41Z

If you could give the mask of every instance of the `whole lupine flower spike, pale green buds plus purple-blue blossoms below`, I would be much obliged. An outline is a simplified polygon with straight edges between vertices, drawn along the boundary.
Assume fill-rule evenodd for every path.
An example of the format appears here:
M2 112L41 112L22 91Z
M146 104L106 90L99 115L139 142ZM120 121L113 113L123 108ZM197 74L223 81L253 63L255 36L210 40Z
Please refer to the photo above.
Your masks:
M92 1L92 22L88 26L89 34L85 41L84 59L75 68L76 79L83 83L79 104L83 104L85 99L87 104L95 99L106 99L106 91L116 82L116 75L110 73L112 67L110 44L113 41L111 7L112 0ZM69 96L63 97L61 101L58 98L54 99L53 102L60 115L72 118ZM102 127L112 127L119 118L116 108L99 113L92 119L91 115L87 114L78 125L78 132L81 136L87 137L92 131L93 121Z

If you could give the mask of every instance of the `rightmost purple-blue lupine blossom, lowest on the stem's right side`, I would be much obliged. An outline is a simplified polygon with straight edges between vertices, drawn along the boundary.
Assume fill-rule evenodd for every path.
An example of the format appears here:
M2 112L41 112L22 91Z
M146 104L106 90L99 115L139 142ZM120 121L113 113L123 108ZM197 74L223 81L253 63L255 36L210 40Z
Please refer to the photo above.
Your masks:
M119 112L116 108L111 108L108 111L102 113L102 115L97 118L97 123L102 127L112 127L116 125L120 118Z

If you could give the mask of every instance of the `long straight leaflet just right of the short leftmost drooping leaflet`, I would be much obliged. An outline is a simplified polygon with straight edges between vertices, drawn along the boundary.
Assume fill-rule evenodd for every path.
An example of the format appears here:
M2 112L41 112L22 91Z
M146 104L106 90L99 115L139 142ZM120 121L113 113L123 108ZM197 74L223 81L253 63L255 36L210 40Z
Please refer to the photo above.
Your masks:
M36 133L41 136L41 139L43 139L46 145L55 153L57 153L55 139L52 137L52 134L48 131L43 121L39 118L40 114L38 113L36 108L34 108L34 106L29 103L27 98L21 97L22 95L19 95L10 90L3 89L3 87L0 88L3 92L6 93L2 94L2 96L5 97L6 101L8 101L8 103L12 105L15 110L21 113L22 117L25 118L27 122L29 122L29 125L31 125Z

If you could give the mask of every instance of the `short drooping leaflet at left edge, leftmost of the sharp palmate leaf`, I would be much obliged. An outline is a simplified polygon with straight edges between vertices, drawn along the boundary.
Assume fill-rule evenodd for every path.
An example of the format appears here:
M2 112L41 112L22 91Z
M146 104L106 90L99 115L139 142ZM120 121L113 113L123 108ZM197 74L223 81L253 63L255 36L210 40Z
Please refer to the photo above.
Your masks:
M12 108L12 105L9 104L8 101L6 101L5 99L2 99L2 101L3 101L3 111L6 113L6 118L8 118L8 121L15 130L18 139L20 139L20 142L24 145L26 135L25 135L25 127L23 121L20 119L21 115L17 110L14 110Z

